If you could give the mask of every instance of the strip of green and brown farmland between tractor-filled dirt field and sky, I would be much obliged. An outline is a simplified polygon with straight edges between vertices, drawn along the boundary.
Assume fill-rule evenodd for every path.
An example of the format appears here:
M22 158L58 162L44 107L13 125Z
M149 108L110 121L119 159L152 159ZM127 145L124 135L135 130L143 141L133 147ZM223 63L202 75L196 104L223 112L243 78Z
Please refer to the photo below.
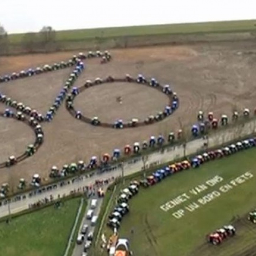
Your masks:
M255 24L256 20L243 20L56 31L53 41L43 44L34 42L34 47L29 50L23 42L25 34L10 34L8 47L1 50L0 54L52 53L85 49L255 40ZM34 35L37 37L38 33Z

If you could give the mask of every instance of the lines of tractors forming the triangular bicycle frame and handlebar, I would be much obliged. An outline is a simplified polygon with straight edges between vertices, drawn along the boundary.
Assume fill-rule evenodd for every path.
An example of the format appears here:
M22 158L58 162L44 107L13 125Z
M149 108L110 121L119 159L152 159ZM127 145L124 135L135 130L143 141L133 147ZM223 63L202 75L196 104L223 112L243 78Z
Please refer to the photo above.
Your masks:
M107 59L107 62L108 62L111 59L111 54L108 51L105 51L104 53L100 52L100 51L89 52L87 54L79 53L79 55L74 55L68 62L61 62L60 64L54 64L52 66L44 65L43 68L37 68L35 70L30 69L29 72L21 71L22 74L25 72L25 74L27 74L27 75L22 75L22 76L6 75L6 76L4 76L5 79L2 81L11 81L11 80L14 80L17 78L29 77L29 76L36 75L36 74L42 74L42 73L46 73L49 71L58 70L60 68L75 66L74 70L71 72L71 74L69 75L69 78L65 82L65 85L63 86L62 90L59 92L59 94L55 98L52 106L50 106L50 108L46 114L39 113L37 110L34 110L33 108L31 108L29 106L26 106L22 102L17 102L16 100L12 99L11 97L6 96L5 94L2 94L1 92L0 92L0 102L4 103L6 106L15 108L17 111L22 112L23 114L26 114L30 117L35 118L38 122L43 122L43 121L50 122L50 121L52 121L54 114L57 112L59 107L62 105L71 86L73 86L74 82L79 77L82 70L84 70L85 66L84 66L84 62L82 62L82 60L86 59L86 58L94 58L94 57L101 57L101 58L104 57ZM8 79L7 79L7 77L8 77ZM8 111L10 111L10 110L8 110Z

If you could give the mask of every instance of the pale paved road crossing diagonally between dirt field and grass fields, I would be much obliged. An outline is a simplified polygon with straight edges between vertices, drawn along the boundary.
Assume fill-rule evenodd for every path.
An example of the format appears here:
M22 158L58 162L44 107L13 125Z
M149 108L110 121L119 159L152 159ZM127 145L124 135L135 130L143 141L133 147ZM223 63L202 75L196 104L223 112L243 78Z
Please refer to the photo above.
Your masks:
M251 121L246 123L243 127L233 127L225 131L220 131L215 135L212 135L208 139L208 145L209 147L217 146L222 143L229 142L230 140L233 140L235 138L238 138L239 136L245 136L247 134L251 134L252 132L256 131L255 121ZM193 140L189 143L187 143L186 146L186 155L196 153L197 151L201 150L203 147L203 143L206 142L206 140L203 139L197 139ZM152 153L148 157L148 162L146 163L147 166L150 165L156 165L160 163L164 163L167 161L174 160L176 158L179 158L184 155L184 150L182 146L176 146L176 147L170 147L168 149L165 149L164 152L156 152ZM124 163L124 175L130 175L135 172L138 172L142 170L143 163L140 157L135 158L134 160L130 160L128 162ZM96 179L108 179L111 177L118 177L121 175L121 169L116 168L115 170L111 172L105 172L103 174L95 174L92 177L85 177L82 176L80 179L73 179L73 182L71 182L71 179L69 180L69 184L66 184L65 186L60 186L60 184L56 184L55 188L51 191L46 192L40 192L42 190L37 190L33 192L33 195L29 195L28 193L25 193L21 195L21 198L17 201L17 198L12 198L11 203L8 204L4 201L0 202L0 217L4 217L9 214L9 209L11 213L17 213L22 210L28 209L29 204L38 202L39 200L49 197L50 195L53 196L54 199L57 199L58 197L62 197L65 195L70 194L74 190L82 190L82 187L84 186L90 186L95 182ZM66 181L68 183L68 181Z

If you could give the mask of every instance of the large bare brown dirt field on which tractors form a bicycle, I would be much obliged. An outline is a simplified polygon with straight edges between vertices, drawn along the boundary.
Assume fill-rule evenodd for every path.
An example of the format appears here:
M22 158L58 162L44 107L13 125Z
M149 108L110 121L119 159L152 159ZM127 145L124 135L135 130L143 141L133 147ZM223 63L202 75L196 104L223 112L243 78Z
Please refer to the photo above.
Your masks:
M129 129L128 132L127 129L114 130L87 125L70 116L63 105L53 122L43 124L45 142L40 150L32 158L9 170L12 179L31 178L36 172L48 177L52 165L61 167L66 162L88 160L92 155L111 153L113 148L122 148L127 143L143 141L152 134L165 134L177 130L179 117L182 118L184 125L192 124L196 121L196 112L201 109L212 110L217 115L229 114L234 106L253 109L256 93L255 46L256 42L244 41L133 48L113 50L113 60L105 65L100 65L99 60L87 60L86 70L75 86L79 87L87 79L96 77L120 77L127 73L135 76L140 73L148 77L154 76L159 82L173 86L180 97L180 108L160 123ZM2 57L0 73L54 63L68 59L72 55L73 53L65 52ZM10 97L15 96L23 103L45 111L54 100L68 73L68 70L62 70L1 84L0 91L8 92ZM123 97L122 106L115 102L117 94ZM75 99L75 106L79 106L84 114L89 116L102 116L106 120L113 120L130 118L132 114L144 118L153 110L159 111L166 102L167 97L150 88L132 84L109 84L86 90ZM17 133L22 132L22 126L15 128ZM28 128L24 126L24 129ZM6 134L6 138L7 136L9 135ZM1 136L0 143L7 143L6 138L4 142ZM10 135L9 141L10 144L16 143L13 135ZM7 151L0 154L14 154L13 151ZM8 181L9 178L5 169L0 170L0 182Z

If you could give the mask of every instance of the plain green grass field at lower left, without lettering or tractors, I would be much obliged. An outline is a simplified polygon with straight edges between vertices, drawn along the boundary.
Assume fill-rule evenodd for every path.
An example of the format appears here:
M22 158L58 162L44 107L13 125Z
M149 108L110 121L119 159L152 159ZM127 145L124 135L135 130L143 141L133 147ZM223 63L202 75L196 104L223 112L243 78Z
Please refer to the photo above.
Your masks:
M74 224L80 198L22 215L9 224L0 223L0 255L63 256Z

